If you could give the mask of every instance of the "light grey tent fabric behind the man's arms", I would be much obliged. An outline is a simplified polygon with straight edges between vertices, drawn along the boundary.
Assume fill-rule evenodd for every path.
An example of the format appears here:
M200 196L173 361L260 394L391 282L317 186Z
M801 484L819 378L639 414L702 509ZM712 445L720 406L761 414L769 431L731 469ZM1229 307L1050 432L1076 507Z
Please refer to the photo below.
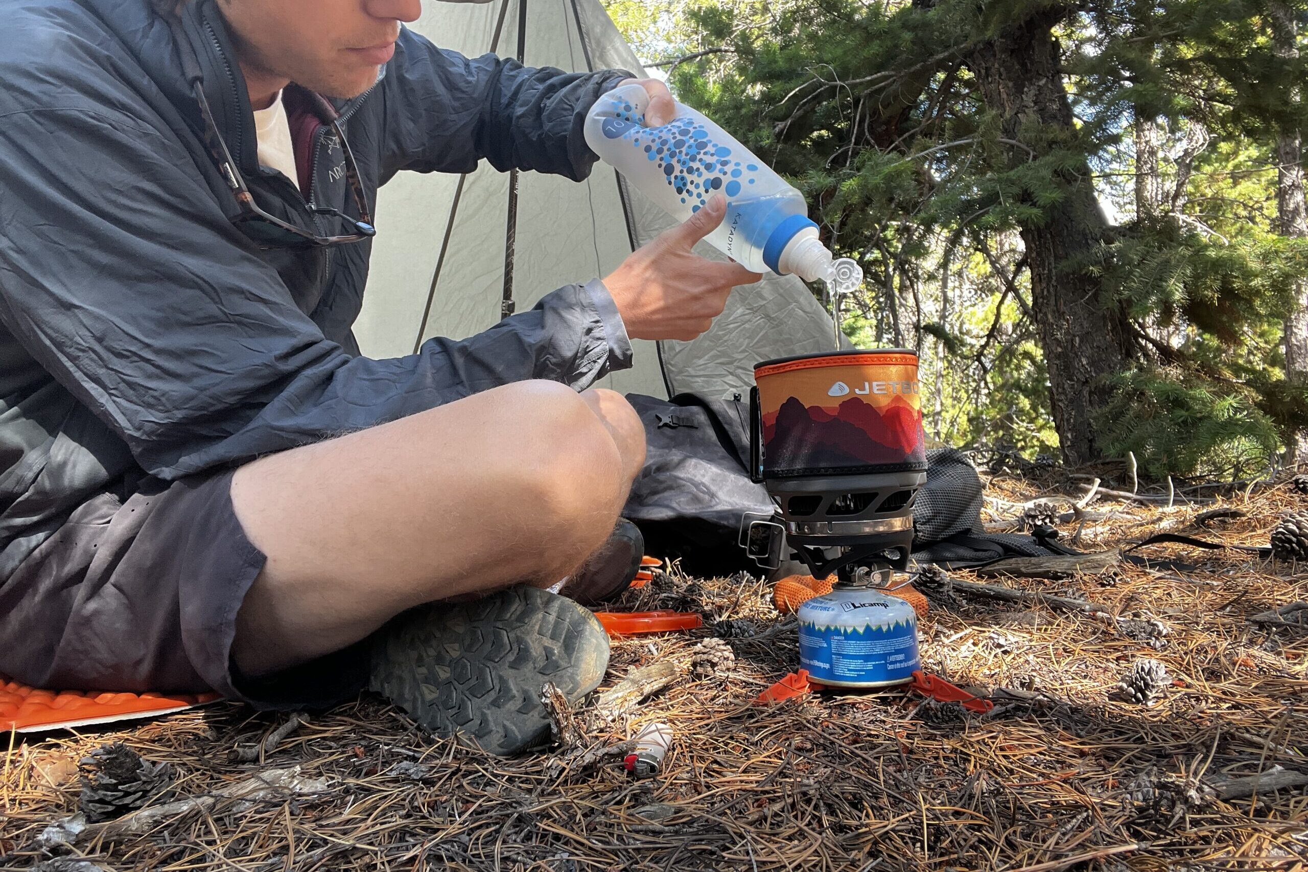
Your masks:
M493 51L566 71L641 73L599 0L428 3L411 25L438 46ZM430 336L492 326L504 301L522 312L559 285L612 271L672 219L596 164L578 185L538 173L402 173L382 189L377 242L354 333L364 354L411 354ZM700 244L705 257L722 259ZM725 397L752 384L759 360L832 347L831 318L793 276L738 288L726 313L695 342L636 342L630 371L604 386L666 397Z

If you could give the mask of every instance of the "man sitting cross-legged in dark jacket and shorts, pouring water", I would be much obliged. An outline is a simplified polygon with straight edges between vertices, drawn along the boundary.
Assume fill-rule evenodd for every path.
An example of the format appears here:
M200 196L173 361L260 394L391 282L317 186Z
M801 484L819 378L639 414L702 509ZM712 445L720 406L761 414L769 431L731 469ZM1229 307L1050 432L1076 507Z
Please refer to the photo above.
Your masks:
M759 276L691 254L719 202L471 339L370 360L351 323L379 185L583 178L582 118L629 73L441 51L402 27L420 0L3 8L0 672L269 708L371 686L538 741L544 678L579 697L608 656L539 588L644 460L589 386Z

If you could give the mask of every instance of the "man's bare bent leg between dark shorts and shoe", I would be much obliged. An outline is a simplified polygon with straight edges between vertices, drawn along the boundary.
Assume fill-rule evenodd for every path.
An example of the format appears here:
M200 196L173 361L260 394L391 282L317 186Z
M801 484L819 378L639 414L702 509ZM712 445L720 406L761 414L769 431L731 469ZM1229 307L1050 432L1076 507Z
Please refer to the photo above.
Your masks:
M620 395L532 381L241 467L233 507L268 562L237 666L268 673L424 602L557 581L612 530L644 457Z

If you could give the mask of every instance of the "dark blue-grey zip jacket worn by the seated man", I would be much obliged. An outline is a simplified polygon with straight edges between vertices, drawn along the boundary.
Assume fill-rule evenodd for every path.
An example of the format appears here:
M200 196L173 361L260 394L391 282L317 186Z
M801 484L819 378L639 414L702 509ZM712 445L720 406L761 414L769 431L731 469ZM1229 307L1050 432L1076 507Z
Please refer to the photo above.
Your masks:
M239 463L523 378L582 389L629 365L599 282L470 339L358 356L369 242L267 251L233 227L173 30L148 0L0 0L0 581L80 501L143 475ZM256 202L311 227L296 186L258 166L212 0L187 4L182 31ZM583 114L628 75L470 60L405 30L378 84L334 107L373 204L400 170L480 158L585 178ZM330 128L311 154L306 194L356 215Z

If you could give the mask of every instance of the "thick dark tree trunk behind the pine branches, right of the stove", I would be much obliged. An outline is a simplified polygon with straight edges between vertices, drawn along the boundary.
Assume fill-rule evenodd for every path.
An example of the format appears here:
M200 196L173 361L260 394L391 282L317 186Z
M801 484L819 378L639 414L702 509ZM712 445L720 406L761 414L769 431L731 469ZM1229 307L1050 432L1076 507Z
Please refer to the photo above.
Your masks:
M1010 26L968 59L986 105L1002 118L1003 135L1036 154L1076 136L1071 103L1059 72L1052 27L1059 10L1041 12ZM1014 160L1028 160L1014 149ZM1103 456L1095 411L1109 399L1104 378L1130 365L1133 350L1125 310L1104 300L1100 279L1084 266L1108 229L1095 196L1090 166L1062 170L1062 199L1045 220L1022 228L1031 268L1036 330L1049 368L1054 428L1069 463Z

